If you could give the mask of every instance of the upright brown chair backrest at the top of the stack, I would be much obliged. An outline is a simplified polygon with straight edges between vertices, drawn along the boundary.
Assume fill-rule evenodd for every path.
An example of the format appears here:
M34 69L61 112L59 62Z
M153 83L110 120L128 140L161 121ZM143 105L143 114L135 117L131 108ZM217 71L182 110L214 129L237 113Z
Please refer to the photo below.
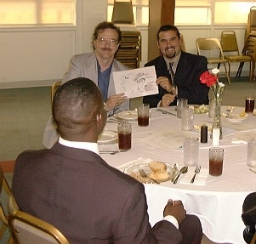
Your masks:
M114 24L134 25L134 12L132 1L117 2L115 0L111 22Z

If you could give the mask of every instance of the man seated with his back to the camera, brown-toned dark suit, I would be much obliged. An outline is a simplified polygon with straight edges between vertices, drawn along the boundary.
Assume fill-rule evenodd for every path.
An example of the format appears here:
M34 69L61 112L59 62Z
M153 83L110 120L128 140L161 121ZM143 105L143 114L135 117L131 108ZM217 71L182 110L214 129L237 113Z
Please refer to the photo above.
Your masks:
M71 244L201 243L200 221L186 215L181 201L169 201L151 228L144 185L100 157L106 111L94 82L65 82L54 95L53 116L58 143L16 160L13 194L20 210L53 224Z

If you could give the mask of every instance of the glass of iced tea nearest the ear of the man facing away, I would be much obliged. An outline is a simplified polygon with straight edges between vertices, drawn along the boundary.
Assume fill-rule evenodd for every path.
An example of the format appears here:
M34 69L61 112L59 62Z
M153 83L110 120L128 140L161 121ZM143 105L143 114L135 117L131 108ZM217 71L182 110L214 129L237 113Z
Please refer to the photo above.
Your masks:
M132 126L128 122L120 122L117 125L118 147L120 150L132 148Z

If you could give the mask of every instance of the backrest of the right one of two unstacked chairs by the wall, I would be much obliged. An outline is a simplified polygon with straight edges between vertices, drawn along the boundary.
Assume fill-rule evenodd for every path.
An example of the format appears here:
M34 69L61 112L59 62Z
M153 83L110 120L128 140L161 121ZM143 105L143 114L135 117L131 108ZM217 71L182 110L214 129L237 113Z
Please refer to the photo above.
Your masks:
M223 52L236 52L239 55L235 31L222 31L220 43Z

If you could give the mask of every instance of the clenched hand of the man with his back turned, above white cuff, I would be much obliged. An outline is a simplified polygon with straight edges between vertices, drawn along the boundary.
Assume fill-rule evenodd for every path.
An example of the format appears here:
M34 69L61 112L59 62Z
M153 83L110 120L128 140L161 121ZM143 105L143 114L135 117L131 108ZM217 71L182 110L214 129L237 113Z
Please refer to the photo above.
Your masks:
M181 223L185 219L185 209L182 201L168 201L164 207L163 216L172 215Z

